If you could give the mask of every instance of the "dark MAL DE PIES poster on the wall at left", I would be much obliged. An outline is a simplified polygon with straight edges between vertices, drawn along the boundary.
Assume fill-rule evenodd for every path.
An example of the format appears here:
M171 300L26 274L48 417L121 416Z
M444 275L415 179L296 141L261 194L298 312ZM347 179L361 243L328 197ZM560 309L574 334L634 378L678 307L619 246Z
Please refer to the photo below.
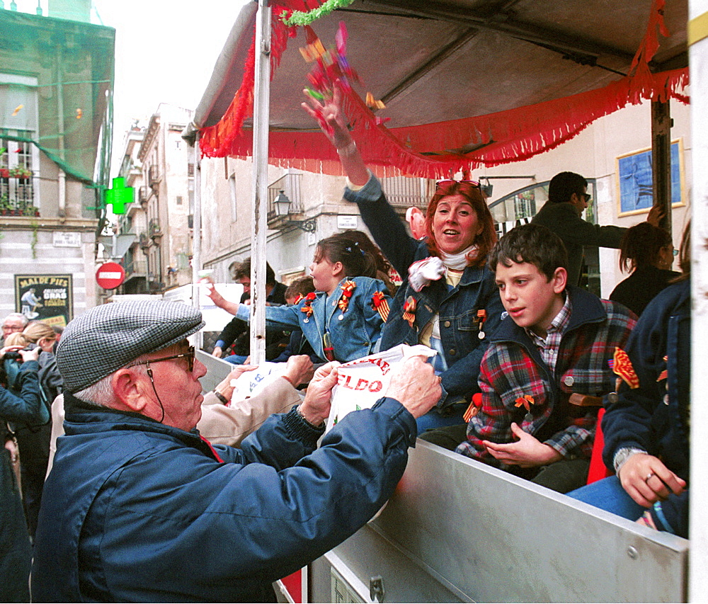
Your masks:
M30 321L65 326L72 320L72 275L15 275L15 309Z

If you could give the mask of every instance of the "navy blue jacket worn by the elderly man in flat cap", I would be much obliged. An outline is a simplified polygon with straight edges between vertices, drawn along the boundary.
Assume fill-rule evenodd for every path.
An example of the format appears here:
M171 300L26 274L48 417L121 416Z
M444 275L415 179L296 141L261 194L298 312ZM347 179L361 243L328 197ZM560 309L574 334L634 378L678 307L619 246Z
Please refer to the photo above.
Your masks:
M345 540L392 495L415 442L394 399L321 431L296 409L215 445L76 404L45 484L35 602L275 601L272 581ZM73 399L74 404L72 404Z

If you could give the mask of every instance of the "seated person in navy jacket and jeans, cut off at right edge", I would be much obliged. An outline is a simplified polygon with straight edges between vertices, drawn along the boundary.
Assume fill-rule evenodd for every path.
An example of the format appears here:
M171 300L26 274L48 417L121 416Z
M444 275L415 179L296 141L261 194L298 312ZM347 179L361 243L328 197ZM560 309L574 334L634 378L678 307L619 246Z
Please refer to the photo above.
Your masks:
M647 305L627 343L622 380L603 417L603 460L616 475L569 493L629 520L688 537L690 224L683 275Z

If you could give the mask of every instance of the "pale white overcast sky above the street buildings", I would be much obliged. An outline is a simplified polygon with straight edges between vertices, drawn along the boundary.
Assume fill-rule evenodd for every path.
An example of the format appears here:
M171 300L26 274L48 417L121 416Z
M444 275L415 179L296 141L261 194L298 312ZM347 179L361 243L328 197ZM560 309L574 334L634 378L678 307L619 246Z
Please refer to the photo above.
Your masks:
M4 0L9 8L11 0ZM16 0L18 11L45 16L47 0ZM92 23L115 28L113 169L125 131L159 103L197 107L241 6L249 0L93 0ZM99 23L100 24L100 23ZM116 161L118 158L118 161Z

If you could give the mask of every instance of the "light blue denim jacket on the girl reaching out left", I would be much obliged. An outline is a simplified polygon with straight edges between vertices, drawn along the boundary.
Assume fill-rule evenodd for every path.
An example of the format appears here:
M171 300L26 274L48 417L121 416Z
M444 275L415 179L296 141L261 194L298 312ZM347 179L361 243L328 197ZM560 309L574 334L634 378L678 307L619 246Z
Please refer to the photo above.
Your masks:
M304 298L292 306L265 307L265 326L272 329L299 329L319 358L326 358L322 346L325 331L329 331L334 357L341 363L370 355L381 337L381 327L384 324L374 307L374 295L383 292L389 304L391 298L382 281L370 277L353 277L350 280L356 286L347 309L342 312L338 302L342 297L341 286L347 279L341 280L329 297L325 292L316 292L315 299L310 303ZM304 311L308 305L312 313ZM248 321L249 307L239 304L236 317Z

